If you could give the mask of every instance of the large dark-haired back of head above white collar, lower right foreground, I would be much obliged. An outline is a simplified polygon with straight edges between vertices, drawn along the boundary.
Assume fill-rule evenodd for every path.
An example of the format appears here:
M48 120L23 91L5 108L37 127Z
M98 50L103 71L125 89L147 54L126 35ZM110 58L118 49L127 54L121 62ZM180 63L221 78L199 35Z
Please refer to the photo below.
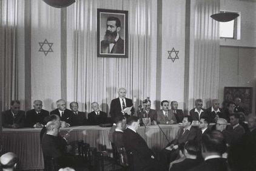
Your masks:
M226 152L226 141L220 131L214 130L207 134L203 134L202 155L205 158L209 155L222 155Z

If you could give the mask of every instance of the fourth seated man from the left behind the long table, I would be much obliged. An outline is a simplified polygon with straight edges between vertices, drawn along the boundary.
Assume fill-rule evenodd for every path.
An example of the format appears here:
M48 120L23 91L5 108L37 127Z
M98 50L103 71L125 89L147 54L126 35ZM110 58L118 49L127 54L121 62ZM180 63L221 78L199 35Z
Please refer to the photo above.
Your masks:
M72 126L86 125L86 123L87 123L86 113L78 111L78 103L71 102L70 109L74 114L73 118L72 118Z

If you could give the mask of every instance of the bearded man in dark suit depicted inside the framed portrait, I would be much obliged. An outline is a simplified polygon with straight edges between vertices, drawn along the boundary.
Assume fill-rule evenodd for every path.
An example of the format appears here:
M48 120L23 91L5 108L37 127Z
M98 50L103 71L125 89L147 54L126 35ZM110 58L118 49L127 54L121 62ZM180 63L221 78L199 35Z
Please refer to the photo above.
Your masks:
M107 18L107 30L101 41L101 53L124 54L124 40L118 32L121 30L120 19Z

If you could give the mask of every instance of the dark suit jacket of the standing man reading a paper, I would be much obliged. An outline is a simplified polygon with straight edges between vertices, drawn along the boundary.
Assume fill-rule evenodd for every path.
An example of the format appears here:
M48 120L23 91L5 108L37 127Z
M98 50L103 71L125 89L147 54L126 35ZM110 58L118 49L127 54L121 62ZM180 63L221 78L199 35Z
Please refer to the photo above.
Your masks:
M133 106L132 99L126 98L126 108L130 106ZM122 104L120 103L119 97L113 99L110 104L110 112L109 112L112 120L116 117L116 115L120 114L121 111L122 111ZM132 108L130 111L132 112L131 115L133 115L134 108ZM125 114L125 116L128 117L127 114Z

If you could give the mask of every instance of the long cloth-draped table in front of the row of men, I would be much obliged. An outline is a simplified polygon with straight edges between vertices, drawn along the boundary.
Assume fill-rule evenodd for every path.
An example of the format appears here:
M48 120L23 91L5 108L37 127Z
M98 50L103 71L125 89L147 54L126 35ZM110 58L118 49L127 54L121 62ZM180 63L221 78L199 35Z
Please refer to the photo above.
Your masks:
M180 125L160 125L169 141L176 137ZM168 141L161 132L158 125L139 127L138 134L146 140L147 145L153 149L162 149ZM40 145L39 133L41 129L21 128L21 129L2 129L2 149L3 152L14 152L19 157L19 167L22 170L43 169L44 160ZM78 140L83 140L96 147L98 150L111 150L109 141L110 127L99 126L74 126L61 128L61 134L70 131L68 143L75 144Z

